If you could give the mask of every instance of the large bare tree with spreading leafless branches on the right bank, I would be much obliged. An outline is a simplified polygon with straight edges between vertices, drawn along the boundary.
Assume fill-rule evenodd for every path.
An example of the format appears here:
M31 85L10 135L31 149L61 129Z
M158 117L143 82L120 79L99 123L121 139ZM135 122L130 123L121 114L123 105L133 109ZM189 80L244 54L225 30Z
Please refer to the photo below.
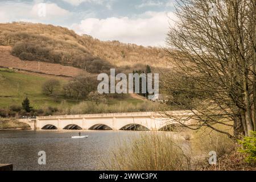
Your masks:
M191 129L210 127L238 138L255 130L255 0L180 0L166 51L175 72L166 92L187 93L189 114L174 117ZM171 82L171 84L170 84ZM193 119L187 125L185 121ZM218 123L218 127L216 127ZM233 127L234 134L219 126Z

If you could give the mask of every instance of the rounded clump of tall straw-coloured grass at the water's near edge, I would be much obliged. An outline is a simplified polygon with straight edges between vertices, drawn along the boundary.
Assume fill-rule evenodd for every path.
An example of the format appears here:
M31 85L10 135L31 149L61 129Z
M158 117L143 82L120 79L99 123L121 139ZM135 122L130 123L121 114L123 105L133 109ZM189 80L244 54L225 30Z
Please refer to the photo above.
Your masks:
M191 169L190 162L191 157L170 133L145 132L119 143L105 166L110 170L180 171Z

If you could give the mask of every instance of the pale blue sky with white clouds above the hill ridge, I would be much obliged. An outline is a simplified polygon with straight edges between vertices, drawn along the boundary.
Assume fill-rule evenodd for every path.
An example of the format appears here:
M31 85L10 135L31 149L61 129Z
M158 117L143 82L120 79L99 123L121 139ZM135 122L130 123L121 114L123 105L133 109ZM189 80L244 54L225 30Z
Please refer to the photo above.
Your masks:
M0 0L0 23L53 24L107 41L164 46L175 0Z

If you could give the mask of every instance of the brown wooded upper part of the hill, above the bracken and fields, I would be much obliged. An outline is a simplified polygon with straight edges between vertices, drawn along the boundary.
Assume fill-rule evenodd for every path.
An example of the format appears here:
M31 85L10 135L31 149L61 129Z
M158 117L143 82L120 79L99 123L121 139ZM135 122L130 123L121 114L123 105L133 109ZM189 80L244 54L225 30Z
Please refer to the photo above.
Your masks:
M90 73L113 67L127 72L143 67L141 64L167 68L164 51L160 48L101 42L67 28L46 24L0 24L0 46L13 47L12 55L22 60L59 63Z

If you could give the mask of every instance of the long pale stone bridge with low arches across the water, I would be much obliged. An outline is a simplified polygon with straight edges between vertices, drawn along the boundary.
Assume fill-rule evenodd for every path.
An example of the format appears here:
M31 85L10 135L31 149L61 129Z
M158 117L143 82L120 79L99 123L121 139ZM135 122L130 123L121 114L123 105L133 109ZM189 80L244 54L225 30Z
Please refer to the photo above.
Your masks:
M181 117L189 115L184 111L168 111L168 114ZM177 124L156 112L54 115L20 121L28 123L32 130L160 130Z

